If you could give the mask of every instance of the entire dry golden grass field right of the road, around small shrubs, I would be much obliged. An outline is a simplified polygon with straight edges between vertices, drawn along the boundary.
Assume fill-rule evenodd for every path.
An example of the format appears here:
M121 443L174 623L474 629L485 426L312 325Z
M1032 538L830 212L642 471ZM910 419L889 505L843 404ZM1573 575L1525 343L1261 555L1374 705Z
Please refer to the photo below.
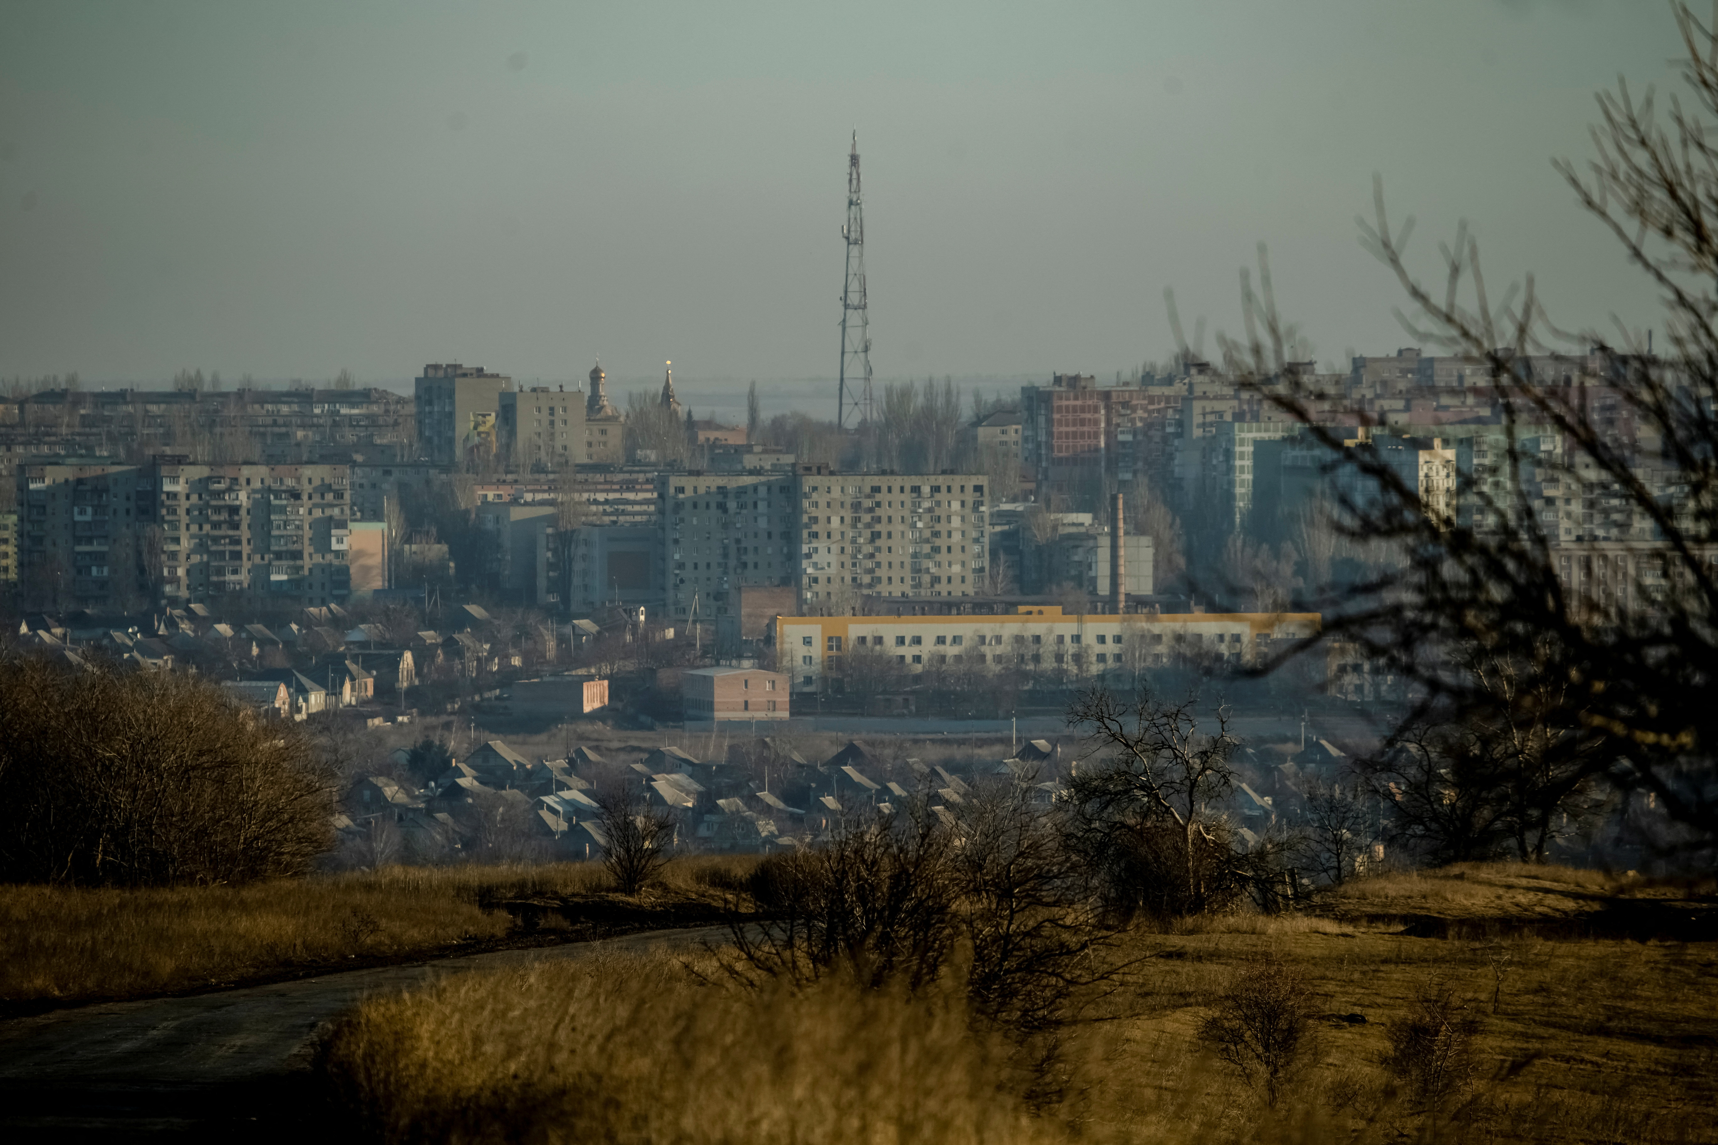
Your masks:
M1070 1032L1060 1100L1038 1109L1022 1095L1045 1075L969 1030L955 984L751 992L708 953L378 997L323 1073L390 1142L1718 1142L1718 946L1562 925L1627 896L1709 903L1687 894L1465 867L1359 882L1325 915L1141 929L1127 985ZM1462 925L1400 922L1428 917ZM1314 1015L1275 1106L1199 1037L1261 956L1304 980ZM1385 1066L1428 985L1476 1023L1472 1071L1441 1104Z

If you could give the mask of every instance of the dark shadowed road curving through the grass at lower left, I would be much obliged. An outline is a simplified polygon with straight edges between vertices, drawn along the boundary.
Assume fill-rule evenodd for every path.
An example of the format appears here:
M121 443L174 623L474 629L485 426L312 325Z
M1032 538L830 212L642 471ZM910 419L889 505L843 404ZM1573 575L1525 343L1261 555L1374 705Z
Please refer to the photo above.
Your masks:
M436 975L723 941L722 927L498 951L192 997L110 1003L0 1021L0 1140L302 1142L323 1023L366 994Z

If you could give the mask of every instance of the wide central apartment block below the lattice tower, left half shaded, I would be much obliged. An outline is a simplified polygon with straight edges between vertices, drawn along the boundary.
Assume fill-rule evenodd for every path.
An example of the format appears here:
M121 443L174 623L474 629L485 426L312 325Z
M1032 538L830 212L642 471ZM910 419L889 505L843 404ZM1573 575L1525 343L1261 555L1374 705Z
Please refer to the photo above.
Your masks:
M983 474L689 472L658 479L668 613L725 616L742 585L802 608L861 596L974 596L988 561Z

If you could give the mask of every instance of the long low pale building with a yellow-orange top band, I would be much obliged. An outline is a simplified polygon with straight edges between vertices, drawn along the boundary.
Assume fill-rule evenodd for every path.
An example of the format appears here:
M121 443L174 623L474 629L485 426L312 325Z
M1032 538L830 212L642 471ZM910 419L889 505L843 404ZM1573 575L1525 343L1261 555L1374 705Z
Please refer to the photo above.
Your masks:
M1177 659L1242 666L1319 625L1318 613L1072 615L1029 604L988 616L780 616L775 649L795 690L845 690L850 675L880 657L909 675L1024 671L1067 682Z

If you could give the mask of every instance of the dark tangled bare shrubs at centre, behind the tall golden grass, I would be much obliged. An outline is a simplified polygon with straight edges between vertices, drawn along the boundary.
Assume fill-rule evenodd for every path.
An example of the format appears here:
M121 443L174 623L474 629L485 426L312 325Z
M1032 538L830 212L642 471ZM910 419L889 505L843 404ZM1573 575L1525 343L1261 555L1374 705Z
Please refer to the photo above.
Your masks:
M1124 966L1058 810L1029 785L978 786L940 814L909 798L758 863L749 889L765 917L730 927L735 977L909 992L953 977L971 1013L1031 1045L1041 1071L1089 987Z

